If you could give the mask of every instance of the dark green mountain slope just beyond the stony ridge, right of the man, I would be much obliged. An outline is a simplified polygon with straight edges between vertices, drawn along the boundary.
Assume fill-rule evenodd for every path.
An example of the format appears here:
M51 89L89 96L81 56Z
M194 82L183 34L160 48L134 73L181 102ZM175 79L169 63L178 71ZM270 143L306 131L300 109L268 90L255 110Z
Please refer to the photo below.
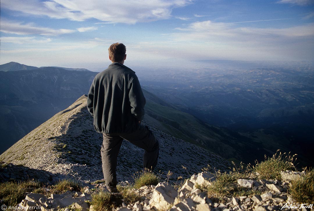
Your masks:
M265 149L261 141L225 128L208 125L191 114L179 111L156 95L144 91L146 114L162 123L161 130L174 137L209 149L226 159L252 162L262 160L276 149Z

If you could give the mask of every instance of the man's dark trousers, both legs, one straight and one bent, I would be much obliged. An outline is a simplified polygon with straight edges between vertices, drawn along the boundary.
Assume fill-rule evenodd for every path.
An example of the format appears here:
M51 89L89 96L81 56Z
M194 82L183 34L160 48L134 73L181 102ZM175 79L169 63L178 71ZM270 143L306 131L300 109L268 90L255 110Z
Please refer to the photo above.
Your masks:
M102 171L109 191L116 190L116 166L117 157L123 139L145 150L144 169L154 170L159 155L159 142L148 127L140 126L133 133L103 134L101 146Z

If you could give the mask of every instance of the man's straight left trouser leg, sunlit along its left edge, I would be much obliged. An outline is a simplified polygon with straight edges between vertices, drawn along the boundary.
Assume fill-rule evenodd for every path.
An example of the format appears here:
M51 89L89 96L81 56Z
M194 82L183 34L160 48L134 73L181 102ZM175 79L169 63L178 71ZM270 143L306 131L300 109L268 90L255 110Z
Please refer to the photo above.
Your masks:
M101 146L101 161L104 179L109 191L116 192L116 166L117 157L123 141L119 136L103 134L103 143Z

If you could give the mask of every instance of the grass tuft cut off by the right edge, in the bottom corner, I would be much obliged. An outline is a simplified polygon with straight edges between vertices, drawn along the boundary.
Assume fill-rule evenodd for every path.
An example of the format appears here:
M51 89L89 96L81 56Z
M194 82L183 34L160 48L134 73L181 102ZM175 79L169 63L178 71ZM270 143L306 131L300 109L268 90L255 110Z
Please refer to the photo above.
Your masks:
M314 169L290 182L290 195L299 203L314 204Z

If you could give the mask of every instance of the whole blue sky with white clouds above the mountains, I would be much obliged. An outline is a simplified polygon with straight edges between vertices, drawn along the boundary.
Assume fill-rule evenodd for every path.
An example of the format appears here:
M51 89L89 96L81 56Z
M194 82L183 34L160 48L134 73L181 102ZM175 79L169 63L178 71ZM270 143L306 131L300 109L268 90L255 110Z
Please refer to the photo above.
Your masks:
M195 60L313 61L313 0L1 0L0 64L99 71ZM127 63L128 62L128 63Z

